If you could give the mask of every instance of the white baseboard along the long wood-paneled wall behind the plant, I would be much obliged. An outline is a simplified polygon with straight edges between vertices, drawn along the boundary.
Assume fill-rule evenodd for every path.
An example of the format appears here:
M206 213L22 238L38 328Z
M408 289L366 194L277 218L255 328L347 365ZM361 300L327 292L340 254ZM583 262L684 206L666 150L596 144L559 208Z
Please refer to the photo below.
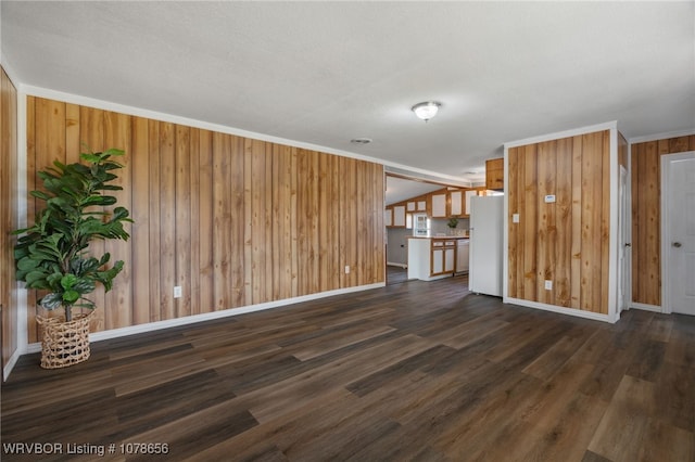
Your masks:
M124 337L127 335L135 335L135 334L142 334L142 333L147 333L147 332L153 332L153 331L160 331L162 329L168 329L168 328L177 328L180 325L187 325L187 324L194 324L197 322L203 322L203 321L211 321L214 319L220 319L220 318L229 318L232 316L239 316L239 315L244 315L248 312L254 312L254 311L263 311L266 309L273 309L273 308L279 308L279 307L283 307L287 305L293 305L293 304L299 304L302 301L309 301L309 300L315 300L318 298L326 298L326 297L332 297L333 295L342 295L342 294L350 294L353 292L362 292L362 291L368 291L370 288L378 288L378 287L383 287L386 286L386 283L383 282L379 282L376 284L367 284L367 285L359 285L356 287L348 287L348 288L338 288L334 291L327 291L327 292L320 292L318 294L311 294L311 295L303 295L301 297L293 297L293 298L286 298L282 300L277 300L277 301L267 301L264 304L257 304L257 305L249 305L245 307L238 307L238 308L230 308L230 309L226 309L226 310L222 310L222 311L213 311L213 312L206 312L206 313L202 313L202 315L193 315L193 316L187 316L184 318L176 318L176 319L169 319L166 321L156 321L156 322L148 322L147 324L138 324L138 325L131 325L128 328L121 328L121 329L112 329L109 331L102 331L102 332L94 332L93 334L89 334L89 342L100 342L100 341L106 341L110 338L117 338L117 337ZM33 344L28 344L24 350L22 351L22 355L27 355L27 354L33 354L33 352L38 352L41 351L41 344L40 343L33 343ZM18 357L18 355L17 355ZM16 362L16 360L15 360ZM14 365L14 364L13 364ZM5 368L8 369L8 368ZM10 369L11 371L12 369ZM10 375L9 372L5 372L5 376Z

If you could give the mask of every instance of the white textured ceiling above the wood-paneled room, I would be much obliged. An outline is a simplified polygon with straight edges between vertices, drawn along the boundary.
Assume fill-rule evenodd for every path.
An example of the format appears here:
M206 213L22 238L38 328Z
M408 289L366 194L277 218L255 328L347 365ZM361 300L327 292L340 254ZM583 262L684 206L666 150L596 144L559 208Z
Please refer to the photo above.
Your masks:
M695 3L0 3L20 90L65 92L478 182L503 143L695 127ZM424 123L414 104L437 100ZM351 139L369 138L369 144Z

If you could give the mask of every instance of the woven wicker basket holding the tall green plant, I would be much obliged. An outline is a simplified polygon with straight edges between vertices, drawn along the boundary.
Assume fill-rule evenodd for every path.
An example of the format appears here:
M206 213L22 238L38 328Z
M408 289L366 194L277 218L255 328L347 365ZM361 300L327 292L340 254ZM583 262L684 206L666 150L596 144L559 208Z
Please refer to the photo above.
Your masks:
M66 368L89 359L89 321L92 313L74 316L70 322L65 322L62 316L36 318L41 328L41 368Z

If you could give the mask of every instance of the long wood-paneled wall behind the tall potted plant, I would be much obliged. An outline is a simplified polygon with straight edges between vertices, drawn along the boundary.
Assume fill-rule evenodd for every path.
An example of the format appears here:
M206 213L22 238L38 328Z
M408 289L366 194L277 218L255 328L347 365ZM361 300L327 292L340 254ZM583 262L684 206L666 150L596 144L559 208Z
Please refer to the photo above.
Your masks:
M94 332L384 281L382 166L27 102L29 189L37 170L77 159L83 143L126 151L117 195L136 222L127 243L97 244L126 266L112 292L96 294ZM28 328L37 342L34 316Z

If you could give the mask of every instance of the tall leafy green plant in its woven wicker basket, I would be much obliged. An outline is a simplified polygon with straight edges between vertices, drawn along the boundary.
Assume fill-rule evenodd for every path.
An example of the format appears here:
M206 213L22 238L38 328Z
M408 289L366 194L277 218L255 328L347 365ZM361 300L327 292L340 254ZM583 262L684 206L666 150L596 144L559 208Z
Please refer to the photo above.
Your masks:
M89 358L89 321L96 307L86 295L98 283L109 292L123 270L122 260L109 268L109 253L94 256L89 252L94 240L129 238L124 229L125 222L132 222L129 211L124 207L113 211L103 208L116 203L109 191L123 189L112 183L117 178L113 170L123 167L112 157L121 155L124 152L116 149L83 153L85 164L55 161L53 167L39 171L45 191L30 194L46 206L38 210L31 227L14 232L22 234L14 246L16 279L27 288L46 292L38 300L41 308L63 309L62 316L37 317L43 368L62 368ZM73 308L87 309L88 313L76 316Z

